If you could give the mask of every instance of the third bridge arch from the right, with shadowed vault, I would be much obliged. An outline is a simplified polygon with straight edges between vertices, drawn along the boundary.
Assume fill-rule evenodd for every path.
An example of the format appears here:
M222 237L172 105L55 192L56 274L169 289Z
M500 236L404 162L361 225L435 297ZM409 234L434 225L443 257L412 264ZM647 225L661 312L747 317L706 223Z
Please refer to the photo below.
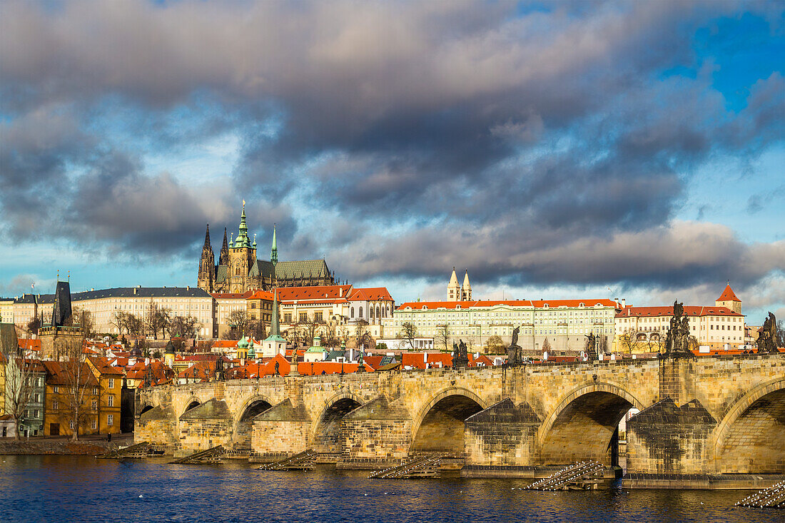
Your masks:
M471 390L448 387L420 409L411 425L411 452L464 452L464 424L470 415L487 408Z

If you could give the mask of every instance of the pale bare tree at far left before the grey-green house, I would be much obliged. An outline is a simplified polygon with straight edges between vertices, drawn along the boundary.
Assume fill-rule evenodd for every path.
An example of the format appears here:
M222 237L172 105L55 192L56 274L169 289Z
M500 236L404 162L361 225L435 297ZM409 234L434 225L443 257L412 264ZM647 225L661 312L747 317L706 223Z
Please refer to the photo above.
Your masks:
M33 369L38 364L25 360L13 325L3 325L0 331L0 358L5 360L5 413L16 421L14 439L19 439L19 422L24 416L33 393ZM0 392L3 393L3 392Z

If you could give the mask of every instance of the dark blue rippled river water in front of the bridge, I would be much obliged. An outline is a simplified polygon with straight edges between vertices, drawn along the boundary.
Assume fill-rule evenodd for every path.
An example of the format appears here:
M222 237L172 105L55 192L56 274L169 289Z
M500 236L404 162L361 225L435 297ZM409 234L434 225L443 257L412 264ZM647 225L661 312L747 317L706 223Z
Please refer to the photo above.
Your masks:
M329 468L0 456L0 521L785 521L747 491L529 492L509 479L371 480Z

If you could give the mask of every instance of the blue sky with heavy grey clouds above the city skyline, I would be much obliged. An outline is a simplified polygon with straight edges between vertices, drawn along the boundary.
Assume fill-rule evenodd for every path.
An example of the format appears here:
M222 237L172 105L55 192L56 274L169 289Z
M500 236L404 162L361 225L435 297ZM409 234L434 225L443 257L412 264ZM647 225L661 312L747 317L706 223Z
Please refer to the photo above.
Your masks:
M785 2L0 2L0 296L259 257L785 319Z

